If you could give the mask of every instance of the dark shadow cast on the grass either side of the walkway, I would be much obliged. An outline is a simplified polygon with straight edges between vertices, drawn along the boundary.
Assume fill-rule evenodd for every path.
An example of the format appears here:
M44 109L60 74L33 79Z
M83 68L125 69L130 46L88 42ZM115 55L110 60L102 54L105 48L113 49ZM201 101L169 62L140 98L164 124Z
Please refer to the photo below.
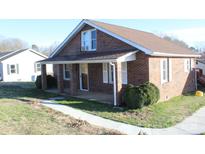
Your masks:
M32 83L0 83L0 99L15 99L30 102L29 99L48 99L58 94L36 89ZM114 108L112 105L90 101L86 99L66 97L65 100L56 101L59 104L81 109L87 112L124 112L126 108Z

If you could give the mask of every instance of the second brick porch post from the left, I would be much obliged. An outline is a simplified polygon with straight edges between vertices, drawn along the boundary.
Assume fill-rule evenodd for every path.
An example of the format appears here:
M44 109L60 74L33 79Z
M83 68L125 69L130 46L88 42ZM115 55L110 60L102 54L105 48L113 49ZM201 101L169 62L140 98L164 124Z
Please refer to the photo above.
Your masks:
M58 84L58 91L60 93L64 92L64 85L63 85L63 64L58 64L57 69L57 84Z

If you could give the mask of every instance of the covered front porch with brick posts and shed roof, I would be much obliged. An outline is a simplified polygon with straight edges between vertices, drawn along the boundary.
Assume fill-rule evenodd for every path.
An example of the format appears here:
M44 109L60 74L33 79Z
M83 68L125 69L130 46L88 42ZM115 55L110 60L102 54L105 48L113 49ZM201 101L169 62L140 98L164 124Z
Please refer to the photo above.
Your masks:
M57 90L77 98L94 100L102 103L120 106L122 104L122 63L136 59L136 52L120 52L100 55L79 55L70 59L71 56L51 58L41 61L42 89L47 89L46 64L53 64L56 68ZM94 56L91 56L94 55ZM104 64L108 64L112 71L106 78ZM108 82L108 78L112 82ZM105 80L106 79L106 80Z

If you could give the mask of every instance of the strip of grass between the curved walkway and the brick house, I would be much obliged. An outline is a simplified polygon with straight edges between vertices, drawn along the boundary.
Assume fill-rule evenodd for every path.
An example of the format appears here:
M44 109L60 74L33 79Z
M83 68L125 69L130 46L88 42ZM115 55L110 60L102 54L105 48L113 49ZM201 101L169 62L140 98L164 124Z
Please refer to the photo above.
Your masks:
M142 127L165 128L177 124L205 106L205 97L187 94L136 110L116 109L106 104L74 98L58 102L115 121Z

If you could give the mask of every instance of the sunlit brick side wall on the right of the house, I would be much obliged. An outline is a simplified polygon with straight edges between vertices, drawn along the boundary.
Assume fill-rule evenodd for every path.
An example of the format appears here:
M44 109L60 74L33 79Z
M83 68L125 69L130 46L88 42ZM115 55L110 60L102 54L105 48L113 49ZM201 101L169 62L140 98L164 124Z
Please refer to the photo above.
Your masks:
M174 96L195 90L194 71L186 73L184 71L185 58L170 58L172 61L172 80L161 84L160 77L160 57L149 57L149 81L160 89L161 100L166 100ZM192 59L194 64L194 59Z

